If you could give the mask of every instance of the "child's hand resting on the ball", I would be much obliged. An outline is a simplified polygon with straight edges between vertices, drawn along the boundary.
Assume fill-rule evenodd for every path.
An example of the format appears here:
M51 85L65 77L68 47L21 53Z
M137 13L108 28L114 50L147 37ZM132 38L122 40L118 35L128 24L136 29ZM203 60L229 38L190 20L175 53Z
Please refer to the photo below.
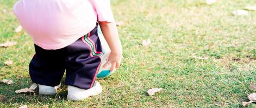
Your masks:
M112 72L114 69L118 69L120 67L122 58L122 53L110 52L108 62L103 65L103 68L111 65L110 72Z

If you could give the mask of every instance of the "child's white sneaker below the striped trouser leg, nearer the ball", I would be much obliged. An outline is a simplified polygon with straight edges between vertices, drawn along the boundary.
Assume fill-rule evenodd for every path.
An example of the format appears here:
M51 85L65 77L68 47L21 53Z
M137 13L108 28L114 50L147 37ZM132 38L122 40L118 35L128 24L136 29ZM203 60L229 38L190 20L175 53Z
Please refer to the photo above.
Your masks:
M90 96L99 95L102 92L102 86L99 82L96 82L96 85L91 87L91 89L85 90L68 85L67 90L67 99L76 101L86 99Z

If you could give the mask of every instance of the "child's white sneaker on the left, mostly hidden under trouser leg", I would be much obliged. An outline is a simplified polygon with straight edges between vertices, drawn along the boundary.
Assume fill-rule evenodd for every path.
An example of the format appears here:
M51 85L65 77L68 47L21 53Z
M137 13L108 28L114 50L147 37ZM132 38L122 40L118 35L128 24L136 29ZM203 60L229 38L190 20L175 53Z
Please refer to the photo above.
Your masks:
M39 86L39 95L54 95L57 93L57 89L60 87L60 84L57 86L46 86L46 85L40 85Z

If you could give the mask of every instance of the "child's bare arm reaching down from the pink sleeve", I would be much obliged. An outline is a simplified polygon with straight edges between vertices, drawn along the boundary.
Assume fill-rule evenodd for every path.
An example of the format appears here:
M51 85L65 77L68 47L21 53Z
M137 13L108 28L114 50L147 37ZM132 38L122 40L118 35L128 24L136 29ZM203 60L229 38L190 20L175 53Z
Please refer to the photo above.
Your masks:
M105 68L107 65L111 65L110 71L113 71L114 68L119 68L120 60L123 58L122 45L118 36L117 27L115 23L109 22L99 22L99 26L101 26L103 36L105 37L111 50L109 60L103 65L103 68Z

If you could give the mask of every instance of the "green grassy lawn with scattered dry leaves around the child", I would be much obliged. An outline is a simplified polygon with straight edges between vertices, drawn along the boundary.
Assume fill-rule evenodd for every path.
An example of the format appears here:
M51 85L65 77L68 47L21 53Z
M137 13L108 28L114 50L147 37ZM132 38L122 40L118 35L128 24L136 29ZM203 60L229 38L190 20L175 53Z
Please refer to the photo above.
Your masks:
M247 102L249 83L256 83L256 11L234 16L232 11L251 0L219 0L213 5L201 0L112 0L123 44L121 69L106 79L99 96L81 102L66 100L67 86L55 96L14 91L32 83L28 64L34 55L32 39L15 32L16 0L0 0L0 43L17 41L0 48L0 95L8 102L0 107L242 107ZM6 10L6 12L3 12ZM149 46L141 42L151 39ZM193 57L209 57L200 60ZM14 65L4 65L8 59ZM163 90L148 96L147 90ZM256 107L251 104L248 107Z

